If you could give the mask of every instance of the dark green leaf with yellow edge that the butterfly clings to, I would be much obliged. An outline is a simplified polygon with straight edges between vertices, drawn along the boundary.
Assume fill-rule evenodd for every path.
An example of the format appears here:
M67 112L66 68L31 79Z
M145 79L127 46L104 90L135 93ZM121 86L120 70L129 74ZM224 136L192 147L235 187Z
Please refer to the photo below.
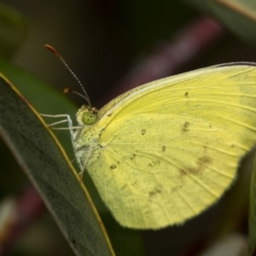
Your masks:
M90 196L26 98L0 78L0 134L79 255L113 255ZM86 197L85 197L86 195Z

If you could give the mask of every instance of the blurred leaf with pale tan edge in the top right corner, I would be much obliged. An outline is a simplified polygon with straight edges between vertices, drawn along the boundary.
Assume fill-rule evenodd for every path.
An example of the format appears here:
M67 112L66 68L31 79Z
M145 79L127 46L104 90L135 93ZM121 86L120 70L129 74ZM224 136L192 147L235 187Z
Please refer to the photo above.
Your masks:
M256 1L194 0L188 1L198 9L215 16L231 32L251 44L256 44Z

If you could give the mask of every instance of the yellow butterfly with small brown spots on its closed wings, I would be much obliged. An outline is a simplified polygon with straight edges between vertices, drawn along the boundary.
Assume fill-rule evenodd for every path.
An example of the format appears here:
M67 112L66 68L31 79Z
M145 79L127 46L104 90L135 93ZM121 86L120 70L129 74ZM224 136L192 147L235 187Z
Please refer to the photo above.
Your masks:
M81 172L119 224L160 229L218 201L256 141L256 67L230 63L160 79L68 118ZM78 128L78 129L77 129Z

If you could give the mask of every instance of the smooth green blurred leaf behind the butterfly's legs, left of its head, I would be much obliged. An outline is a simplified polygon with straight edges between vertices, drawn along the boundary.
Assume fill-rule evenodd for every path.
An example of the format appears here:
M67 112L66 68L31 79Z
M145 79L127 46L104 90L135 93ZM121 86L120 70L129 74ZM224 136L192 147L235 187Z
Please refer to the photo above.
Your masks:
M78 110L73 103L67 100L64 93L56 91L31 73L0 59L0 71L7 76L12 84L20 90L23 96L31 102L40 113L67 113L74 117ZM52 121L52 119L51 119ZM68 131L55 131L55 135L65 148L67 155L73 159L73 148Z

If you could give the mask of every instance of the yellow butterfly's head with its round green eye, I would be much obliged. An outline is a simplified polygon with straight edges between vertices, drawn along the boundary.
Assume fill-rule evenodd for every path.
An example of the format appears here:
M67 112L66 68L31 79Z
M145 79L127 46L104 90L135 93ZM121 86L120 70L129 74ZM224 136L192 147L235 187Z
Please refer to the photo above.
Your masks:
M79 125L94 125L98 119L98 110L90 106L82 106L76 115Z

